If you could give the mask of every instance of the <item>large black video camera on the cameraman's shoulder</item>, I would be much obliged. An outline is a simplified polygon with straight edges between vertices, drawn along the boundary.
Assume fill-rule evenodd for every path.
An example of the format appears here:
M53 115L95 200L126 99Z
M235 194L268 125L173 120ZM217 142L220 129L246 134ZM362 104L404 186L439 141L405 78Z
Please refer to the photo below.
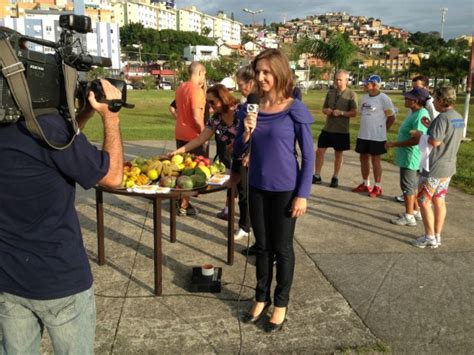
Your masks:
M30 91L32 108L35 112L57 110L66 119L71 118L67 103L67 90L64 85L62 64L69 65L80 72L87 72L93 66L110 67L110 58L86 54L79 39L74 33L88 33L91 30L91 19L88 16L61 15L59 25L63 29L58 42L22 35L6 27L0 27L0 38L6 38L19 61L23 64L24 74ZM32 42L54 49L53 54L29 50L26 42ZM3 68L2 68L3 69ZM111 111L117 112L122 107L133 108L127 104L127 86L122 80L107 79L122 92L120 100L107 101L100 80L76 83L74 94L75 109L80 113L89 105L88 95L92 90L97 101L108 103ZM72 90L71 90L72 91ZM0 123L16 122L22 116L14 100L11 88L3 74L0 73Z

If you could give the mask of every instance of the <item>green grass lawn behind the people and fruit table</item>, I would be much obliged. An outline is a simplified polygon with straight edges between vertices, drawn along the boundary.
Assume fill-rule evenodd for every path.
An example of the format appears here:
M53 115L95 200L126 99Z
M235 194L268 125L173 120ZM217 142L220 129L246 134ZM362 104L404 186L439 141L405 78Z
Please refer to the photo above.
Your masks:
M406 108L404 100L399 91L386 92L392 99L399 113L397 120L389 132L389 140L395 140L400 123L406 117ZM358 95L362 95L358 92ZM324 125L325 117L321 113L323 100L326 91L309 91L304 95L303 101L309 107L315 118L312 126L315 142ZM174 99L174 91L158 90L135 90L128 92L128 101L135 104L131 110L122 109L121 126L124 141L133 140L174 140L174 119L168 111L168 105ZM464 113L465 96L460 95L456 104L456 110ZM469 122L467 136L474 138L474 100L471 99L469 109ZM359 129L359 118L351 121L351 141L352 148L355 147L357 132ZM100 119L93 118L87 124L85 134L89 139L95 141L102 140L102 124ZM393 160L394 149L391 149L384 158L388 161ZM453 178L452 185L474 194L474 142L463 142L458 153L457 173Z

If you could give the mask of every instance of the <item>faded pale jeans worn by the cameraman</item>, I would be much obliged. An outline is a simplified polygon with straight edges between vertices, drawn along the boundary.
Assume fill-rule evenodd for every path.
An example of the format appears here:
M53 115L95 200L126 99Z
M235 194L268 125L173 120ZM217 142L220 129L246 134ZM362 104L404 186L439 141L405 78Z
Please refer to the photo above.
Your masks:
M43 330L55 354L93 354L94 287L54 300L33 300L0 293L0 354L39 354Z

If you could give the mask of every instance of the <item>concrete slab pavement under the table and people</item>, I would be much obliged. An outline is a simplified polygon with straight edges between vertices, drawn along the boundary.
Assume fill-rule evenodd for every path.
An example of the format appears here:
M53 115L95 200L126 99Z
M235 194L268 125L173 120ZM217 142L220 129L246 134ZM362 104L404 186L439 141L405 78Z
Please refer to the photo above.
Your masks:
M125 144L127 158L173 149L174 142ZM350 192L360 183L358 156L345 154L340 187L313 185L307 214L297 223L296 271L288 323L273 335L237 321L255 285L254 259L238 251L226 265L226 223L215 217L225 194L200 196L202 213L177 219L169 242L163 212L163 296L153 295L152 217L147 201L106 195L107 264L98 266L95 198L79 191L77 208L95 277L97 354L340 353L472 354L474 349L474 197L451 188L442 246L417 249L423 232L389 223L403 210L398 168L384 163L381 198ZM252 242L252 240L251 240ZM223 269L220 294L188 292L193 266ZM245 276L245 277L244 277ZM237 302L244 281L242 299ZM51 350L44 337L44 353Z

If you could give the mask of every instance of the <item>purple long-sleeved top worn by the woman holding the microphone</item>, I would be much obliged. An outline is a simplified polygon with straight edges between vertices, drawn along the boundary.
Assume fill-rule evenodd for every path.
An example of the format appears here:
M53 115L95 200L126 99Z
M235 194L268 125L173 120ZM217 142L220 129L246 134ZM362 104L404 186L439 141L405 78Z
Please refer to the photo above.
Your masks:
M241 115L241 119L246 114ZM294 100L281 112L259 112L257 127L252 133L249 184L266 191L295 191L297 197L309 197L314 169L313 117L306 106ZM235 139L237 156L248 144L242 141L243 123ZM296 142L301 150L301 167L298 164Z

